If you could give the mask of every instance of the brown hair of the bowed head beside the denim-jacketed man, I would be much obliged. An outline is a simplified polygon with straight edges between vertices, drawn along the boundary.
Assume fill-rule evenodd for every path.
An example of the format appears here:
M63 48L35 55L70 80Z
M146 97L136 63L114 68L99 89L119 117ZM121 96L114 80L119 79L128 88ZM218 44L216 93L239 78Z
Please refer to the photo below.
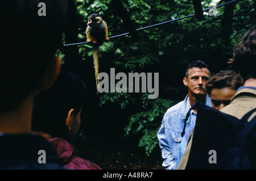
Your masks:
M212 75L207 82L206 88L210 95L210 92L216 89L222 89L228 87L230 89L237 90L243 85L243 79L234 71L222 70L217 74Z

